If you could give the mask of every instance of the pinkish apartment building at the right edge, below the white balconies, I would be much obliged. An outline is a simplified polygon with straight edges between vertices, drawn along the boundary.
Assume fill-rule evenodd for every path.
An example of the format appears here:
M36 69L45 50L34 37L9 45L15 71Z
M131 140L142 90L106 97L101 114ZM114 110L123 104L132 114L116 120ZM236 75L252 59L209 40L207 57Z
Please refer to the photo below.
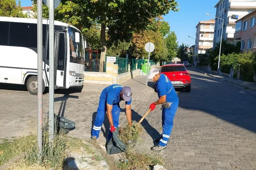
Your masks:
M241 50L256 51L256 11L236 21L234 40L241 41Z

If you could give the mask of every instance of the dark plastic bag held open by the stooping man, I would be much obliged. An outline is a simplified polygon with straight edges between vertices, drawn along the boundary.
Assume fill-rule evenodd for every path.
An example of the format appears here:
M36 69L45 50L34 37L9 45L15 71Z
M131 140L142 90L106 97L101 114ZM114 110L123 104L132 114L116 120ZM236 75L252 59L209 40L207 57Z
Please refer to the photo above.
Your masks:
M116 128L116 131L113 132L112 138L109 140L107 144L107 153L109 155L119 154L125 152L127 150L127 146L119 139L119 128Z

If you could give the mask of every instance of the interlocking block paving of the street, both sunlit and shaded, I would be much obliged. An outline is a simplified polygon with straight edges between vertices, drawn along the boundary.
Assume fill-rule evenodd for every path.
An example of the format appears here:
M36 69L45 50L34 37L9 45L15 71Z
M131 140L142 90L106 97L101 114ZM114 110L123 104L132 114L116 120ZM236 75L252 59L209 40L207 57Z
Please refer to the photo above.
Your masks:
M192 90L176 90L180 98L167 149L160 152L168 161L167 169L255 169L256 167L256 93L229 83L190 72ZM157 100L152 88L143 85L146 76L135 77L122 85L133 91L132 119L139 121L149 105ZM153 83L150 82L150 86ZM1 85L0 85L1 86ZM86 85L85 85L86 86ZM36 130L37 96L26 87L0 87L0 138L26 135ZM89 86L88 88L92 88ZM100 90L85 93L55 94L55 113L75 121L69 135L89 139L96 118ZM124 108L124 103L121 103ZM43 116L48 110L48 94L43 95ZM127 124L124 110L120 126ZM153 146L153 138L161 133L160 106L142 121L143 149ZM106 132L107 129L107 132ZM99 142L105 142L109 124L102 126ZM145 134L145 135L144 135ZM1 141L0 141L1 142ZM140 148L136 146L136 148Z

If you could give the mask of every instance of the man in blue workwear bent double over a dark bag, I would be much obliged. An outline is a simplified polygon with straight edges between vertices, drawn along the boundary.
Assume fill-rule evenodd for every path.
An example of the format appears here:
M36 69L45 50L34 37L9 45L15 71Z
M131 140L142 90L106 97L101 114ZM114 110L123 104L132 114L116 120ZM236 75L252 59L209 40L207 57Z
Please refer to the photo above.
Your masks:
M102 90L100 95L99 106L97 109L97 116L93 126L91 140L95 143L99 138L102 123L104 121L105 113L107 112L110 130L108 134L108 141L112 138L112 132L119 125L120 115L120 101L125 101L126 117L129 125L132 125L132 90L130 87L122 87L118 84L112 84Z

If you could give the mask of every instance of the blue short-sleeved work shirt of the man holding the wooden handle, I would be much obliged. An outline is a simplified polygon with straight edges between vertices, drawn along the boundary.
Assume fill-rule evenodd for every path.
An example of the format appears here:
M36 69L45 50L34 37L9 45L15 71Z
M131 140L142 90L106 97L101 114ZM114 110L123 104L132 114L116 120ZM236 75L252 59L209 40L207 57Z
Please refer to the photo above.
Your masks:
M156 92L159 98L166 95L167 102L175 102L178 99L173 83L162 73L160 73L159 80L156 82Z

